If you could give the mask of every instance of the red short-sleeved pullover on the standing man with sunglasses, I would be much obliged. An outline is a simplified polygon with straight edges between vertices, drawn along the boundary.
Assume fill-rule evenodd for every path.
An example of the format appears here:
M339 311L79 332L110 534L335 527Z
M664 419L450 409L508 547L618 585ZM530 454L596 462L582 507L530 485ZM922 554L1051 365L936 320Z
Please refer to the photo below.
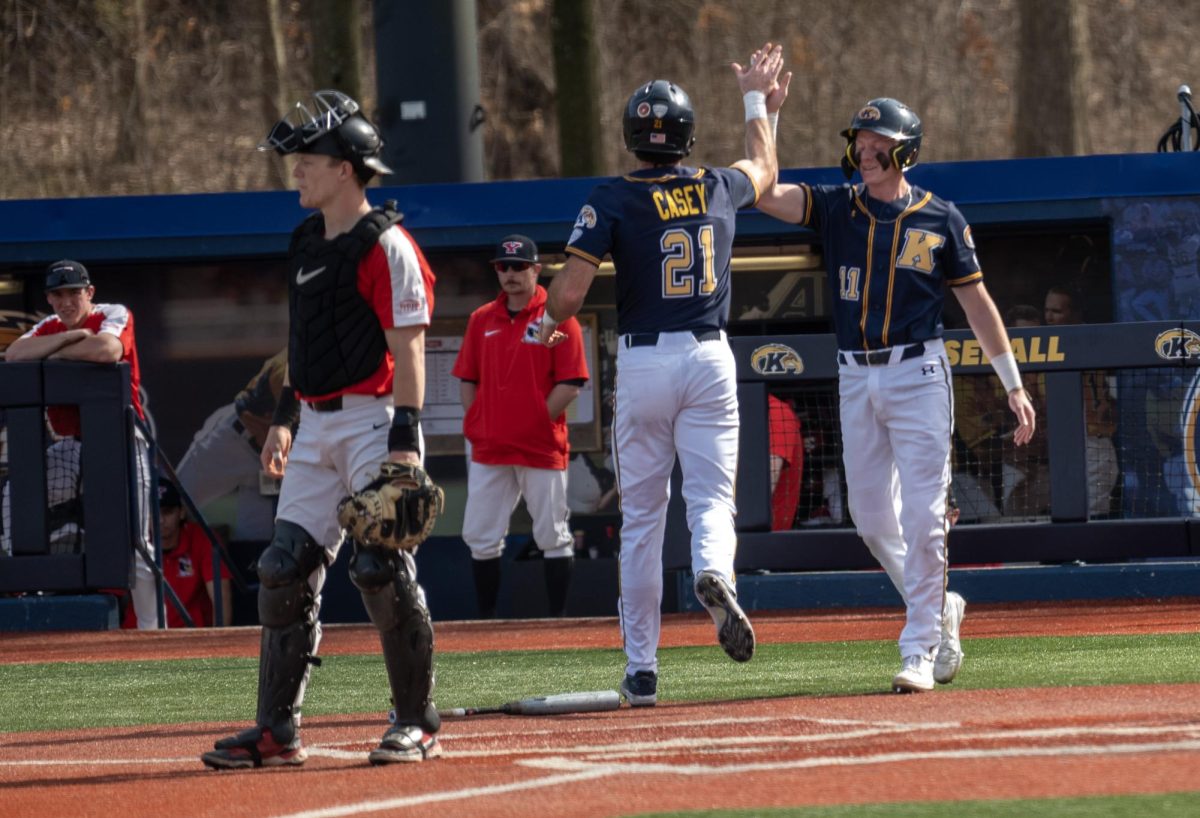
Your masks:
M566 415L551 419L546 396L564 380L588 378L580 323L558 325L566 339L553 348L538 343L546 308L541 285L529 303L509 318L508 295L472 313L451 374L476 385L463 420L470 456L490 465L565 469Z

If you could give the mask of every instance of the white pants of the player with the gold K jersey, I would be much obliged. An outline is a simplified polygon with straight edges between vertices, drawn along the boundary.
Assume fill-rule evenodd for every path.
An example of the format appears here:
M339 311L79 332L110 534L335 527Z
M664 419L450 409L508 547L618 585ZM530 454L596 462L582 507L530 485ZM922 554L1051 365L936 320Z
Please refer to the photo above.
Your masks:
M925 347L890 366L839 367L851 516L902 589L901 656L936 650L946 591L953 393L942 345Z

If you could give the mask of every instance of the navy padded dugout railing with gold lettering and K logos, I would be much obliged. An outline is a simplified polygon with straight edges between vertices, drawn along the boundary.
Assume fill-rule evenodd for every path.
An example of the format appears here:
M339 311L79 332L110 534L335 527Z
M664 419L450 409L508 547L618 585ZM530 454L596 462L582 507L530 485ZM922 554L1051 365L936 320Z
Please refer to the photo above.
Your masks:
M1043 413L1049 475L1049 509L1038 519L964 522L950 534L952 565L1012 563L1110 563L1151 558L1200 557L1200 519L1176 503L1166 513L1129 507L1121 500L1123 488L1136 482L1130 475L1141 457L1135 446L1147 435L1122 429L1144 420L1141 403L1157 381L1172 384L1169 411L1177 413L1162 425L1177 426L1181 456L1174 458L1174 488L1200 500L1196 470L1198 365L1200 321L1092 324L1055 327L1010 329L1016 357L1024 373L1044 378ZM770 529L770 459L768 393L824 390L830 409L828 428L820 429L826 445L840 461L836 428L836 343L832 335L731 338L738 365L742 437L738 462L737 569L752 571L832 571L875 569L846 513L840 524L803 524L788 530ZM955 378L991 378L978 343L970 331L946 333L948 357ZM1088 512L1087 421L1085 374L1103 371L1121 385L1116 390L1117 446L1121 479L1115 488L1111 513L1103 518ZM1136 377L1136 379L1135 379ZM1148 380L1147 380L1148 379ZM1124 432L1124 434L1123 434ZM1122 439L1123 438L1123 439ZM1141 475L1145 482L1146 475ZM678 500L678 474L668 512L664 551L667 570L690 564L688 528ZM967 515L970 517L970 515Z

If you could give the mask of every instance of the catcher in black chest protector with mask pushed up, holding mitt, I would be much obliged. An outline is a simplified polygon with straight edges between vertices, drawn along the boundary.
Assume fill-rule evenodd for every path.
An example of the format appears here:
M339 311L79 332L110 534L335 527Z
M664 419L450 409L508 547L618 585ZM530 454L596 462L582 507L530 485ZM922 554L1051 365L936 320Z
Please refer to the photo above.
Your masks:
M318 91L259 148L296 154L300 204L318 212L292 236L287 387L262 451L283 483L258 560L258 715L200 758L216 769L305 762L300 705L319 664L320 590L346 533L396 714L368 759L434 758L433 627L413 559L442 511L420 465L433 273L400 213L367 203L366 184L390 170L354 100Z

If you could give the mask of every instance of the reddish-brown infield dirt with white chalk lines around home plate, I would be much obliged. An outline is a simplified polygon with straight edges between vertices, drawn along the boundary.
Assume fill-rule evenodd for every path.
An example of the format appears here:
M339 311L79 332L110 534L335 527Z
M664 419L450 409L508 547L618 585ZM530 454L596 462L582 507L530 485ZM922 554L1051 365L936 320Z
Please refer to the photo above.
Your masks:
M894 613L758 614L760 638L889 638ZM559 627L560 625L560 627ZM966 638L1200 630L1200 602L976 606ZM331 652L373 650L368 627L331 627ZM440 650L616 646L612 620L445 624ZM0 661L254 655L257 630L4 637ZM665 643L709 644L700 616ZM89 651L89 652L85 652ZM16 655L16 656L14 656ZM732 696L732 692L731 692ZM1200 684L924 696L793 697L521 718L450 720L445 757L371 768L367 716L305 722L300 769L214 772L212 724L0 734L5 814L622 816L875 801L1188 792L1200 765ZM254 806L251 806L254 805Z

